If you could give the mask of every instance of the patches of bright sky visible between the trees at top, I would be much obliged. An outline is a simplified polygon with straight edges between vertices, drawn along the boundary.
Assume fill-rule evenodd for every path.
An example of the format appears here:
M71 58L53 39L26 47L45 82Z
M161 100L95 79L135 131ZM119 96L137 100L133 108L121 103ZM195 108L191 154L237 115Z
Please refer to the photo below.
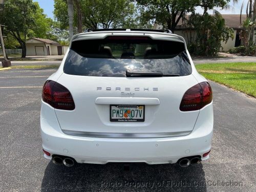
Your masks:
M34 2L38 2L40 7L42 9L44 9L45 14L47 14L48 17L53 18L53 10L54 10L54 0L33 0ZM246 3L247 1L244 0ZM230 5L230 9L229 10L219 10L221 14L240 14L240 9L241 9L241 5L243 3L243 0L239 0L237 4L231 3ZM244 5L244 7L246 6L246 3ZM202 9L197 8L197 12L202 13ZM243 14L245 14L245 8L243 11Z

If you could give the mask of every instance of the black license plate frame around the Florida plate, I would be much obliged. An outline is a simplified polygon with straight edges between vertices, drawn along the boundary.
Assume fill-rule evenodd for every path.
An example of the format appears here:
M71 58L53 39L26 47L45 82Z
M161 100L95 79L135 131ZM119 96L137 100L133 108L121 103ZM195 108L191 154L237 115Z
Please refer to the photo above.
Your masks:
M143 107L142 114L143 118L141 119L130 119L130 118L120 118L120 119L113 119L112 118L112 106L117 108L138 108ZM130 117L130 116L129 116ZM110 121L111 122L144 122L145 121L145 105L144 104L111 104L110 105Z

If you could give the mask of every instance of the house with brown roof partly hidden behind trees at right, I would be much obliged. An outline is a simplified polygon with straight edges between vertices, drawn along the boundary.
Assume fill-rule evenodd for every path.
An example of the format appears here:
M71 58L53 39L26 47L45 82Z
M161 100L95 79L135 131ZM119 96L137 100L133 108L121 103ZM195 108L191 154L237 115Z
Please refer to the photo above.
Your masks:
M234 30L233 35L234 38L229 38L227 42L222 41L221 42L221 50L220 51L228 51L231 48L238 47L241 45L241 40L239 39L239 34L243 27L240 24L240 14L222 14L222 17L225 19L225 24L226 26L232 28ZM241 20L242 23L246 19L246 15L241 15ZM162 29L162 25L158 25L157 23L154 24L154 29ZM196 32L195 30L188 30L188 27L186 26L185 22L180 19L179 23L173 31L174 34L180 35L184 37L186 40L186 43L188 44L188 39L191 38L195 39L196 38ZM253 40L255 40L256 35L254 34Z

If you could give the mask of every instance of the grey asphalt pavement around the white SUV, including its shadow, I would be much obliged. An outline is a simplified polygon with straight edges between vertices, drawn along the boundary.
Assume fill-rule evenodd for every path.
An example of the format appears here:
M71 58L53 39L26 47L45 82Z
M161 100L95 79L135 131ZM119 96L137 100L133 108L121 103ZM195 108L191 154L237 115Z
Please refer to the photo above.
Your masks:
M0 71L0 191L256 191L256 100L216 83L212 151L201 165L54 165L39 132L40 87L54 71Z

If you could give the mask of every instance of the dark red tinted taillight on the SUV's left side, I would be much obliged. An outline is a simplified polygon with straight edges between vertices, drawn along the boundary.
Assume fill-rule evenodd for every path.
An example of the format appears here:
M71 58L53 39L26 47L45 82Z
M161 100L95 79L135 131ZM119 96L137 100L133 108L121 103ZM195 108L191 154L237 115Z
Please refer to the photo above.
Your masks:
M42 100L59 110L74 110L75 103L70 91L61 84L47 80L42 89Z

